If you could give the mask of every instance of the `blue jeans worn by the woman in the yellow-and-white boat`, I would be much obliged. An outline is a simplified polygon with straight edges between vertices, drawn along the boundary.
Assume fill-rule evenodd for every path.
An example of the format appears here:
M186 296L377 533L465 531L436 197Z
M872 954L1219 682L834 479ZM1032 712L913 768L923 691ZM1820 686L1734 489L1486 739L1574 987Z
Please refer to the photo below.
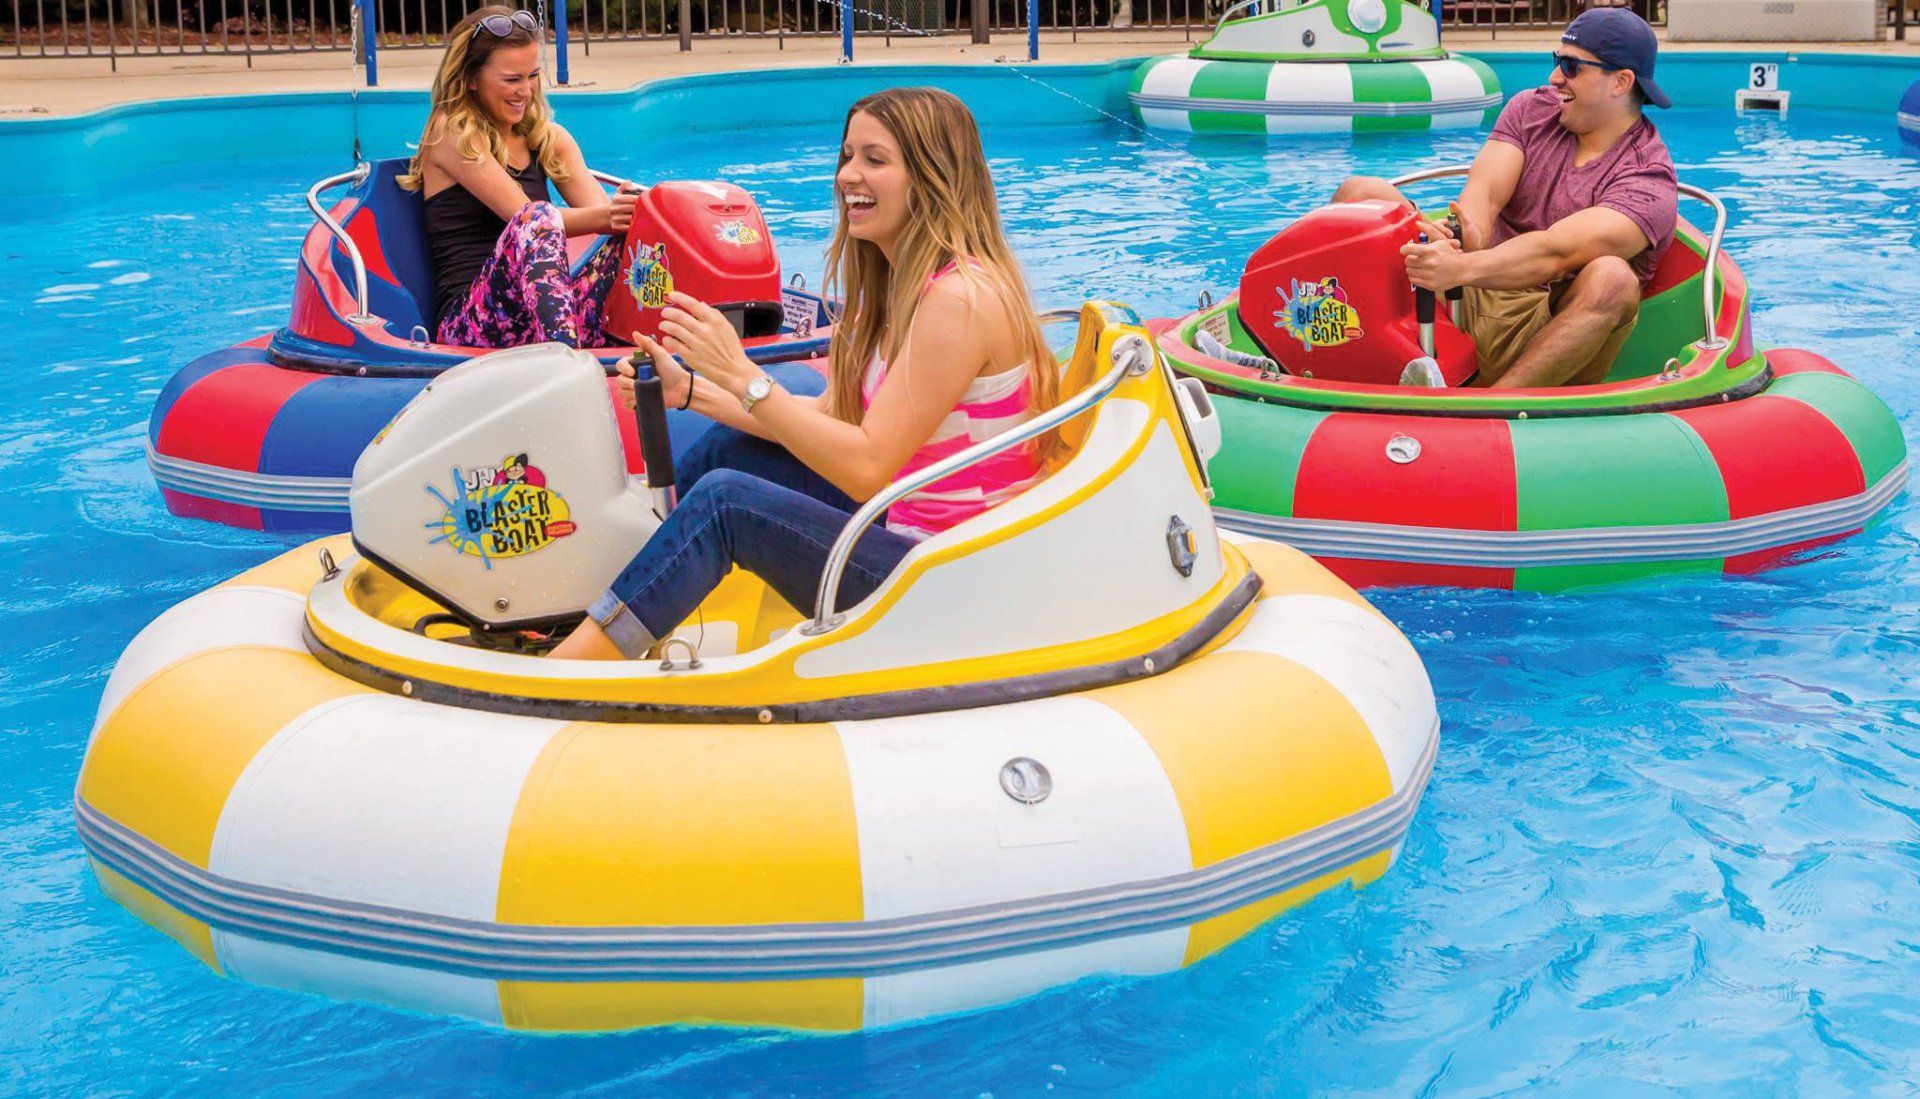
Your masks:
M682 473L684 471L684 473ZM588 607L620 651L645 649L687 619L739 565L801 613L812 613L828 551L852 519L852 500L785 448L718 425L687 450L680 505L612 588ZM914 540L868 526L847 561L837 607L874 594Z

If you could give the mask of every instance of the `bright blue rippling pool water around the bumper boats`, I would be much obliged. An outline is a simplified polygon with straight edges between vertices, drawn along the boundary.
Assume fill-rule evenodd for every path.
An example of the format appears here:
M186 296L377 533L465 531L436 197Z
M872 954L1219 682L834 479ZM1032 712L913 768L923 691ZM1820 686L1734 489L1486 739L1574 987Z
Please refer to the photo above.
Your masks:
M1035 96L1046 94L1041 88ZM563 108L564 110L564 108ZM563 115L564 119L566 115ZM1763 344L1920 425L1920 158L1891 115L1661 119L1728 200ZM732 179L818 279L829 125L622 140L599 165ZM204 138L211 140L213 138ZM1350 171L1476 134L1248 144L989 127L1044 305L1215 294ZM0 134L0 150L10 148ZM374 152L382 152L374 148ZM392 150L386 150L392 152ZM106 901L71 788L115 653L282 544L167 515L146 415L180 363L284 319L307 183L234 152L0 208L0 1089L879 1093L1553 1087L1862 1091L1920 1078L1920 507L1755 578L1377 592L1444 740L1400 865L1212 961L866 1036L532 1038L225 982ZM1699 209L1690 209L1695 217ZM1793 440L1776 446L1791 452Z

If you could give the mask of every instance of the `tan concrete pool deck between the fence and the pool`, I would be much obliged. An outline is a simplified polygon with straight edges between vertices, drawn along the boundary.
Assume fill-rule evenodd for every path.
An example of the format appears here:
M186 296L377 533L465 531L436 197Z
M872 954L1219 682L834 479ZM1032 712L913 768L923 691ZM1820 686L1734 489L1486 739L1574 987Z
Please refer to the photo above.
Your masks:
M1071 33L1041 35L1041 60L1046 63L1096 63L1116 58L1144 58L1185 50L1204 37L1183 31L1087 31L1073 40ZM1475 54L1546 52L1559 38L1557 27L1538 29L1450 29L1452 48ZM831 65L839 58L839 38L776 38L733 37L695 38L691 52L680 52L678 42L616 42L599 40L588 54L580 40L570 52L570 83L551 88L620 90L634 85L689 73L776 69L789 65ZM854 65L960 63L993 65L1025 58L1027 40L1018 31L998 33L987 46L973 46L966 35L939 38L860 38L854 44ZM1889 54L1920 58L1920 29L1905 42L1690 42L1672 52L1751 52L1807 50L1824 54ZM438 48L382 50L380 88L420 88L434 79L440 61ZM551 77L551 73L549 73ZM346 52L324 54L255 54L250 69L240 54L167 54L121 56L119 71L109 69L106 56L98 58L10 58L0 63L0 119L77 115L142 100L177 100L200 96L244 96L263 92L340 92L363 86L359 67Z

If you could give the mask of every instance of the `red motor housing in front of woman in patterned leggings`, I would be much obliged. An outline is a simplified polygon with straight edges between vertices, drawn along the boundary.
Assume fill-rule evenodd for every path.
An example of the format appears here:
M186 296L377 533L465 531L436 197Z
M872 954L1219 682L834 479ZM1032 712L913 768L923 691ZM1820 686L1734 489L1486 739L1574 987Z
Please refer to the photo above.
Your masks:
M674 290L726 313L741 336L780 332L780 256L760 204L732 183L657 183L634 204L620 244L620 281L607 294L607 329L660 330Z

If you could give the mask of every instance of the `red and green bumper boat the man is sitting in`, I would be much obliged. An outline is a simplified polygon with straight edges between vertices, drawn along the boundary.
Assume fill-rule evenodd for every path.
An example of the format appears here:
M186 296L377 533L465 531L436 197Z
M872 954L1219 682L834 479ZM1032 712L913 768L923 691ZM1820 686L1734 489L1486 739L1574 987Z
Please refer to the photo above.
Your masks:
M1238 294L1156 325L1215 394L1219 523L1356 586L1517 590L1751 573L1860 530L1907 484L1899 423L1818 354L1755 350L1726 211L1682 192L1715 208L1713 232L1682 221L1590 386L1467 388L1475 348L1446 307L1423 340L1404 209L1323 208L1283 231Z

